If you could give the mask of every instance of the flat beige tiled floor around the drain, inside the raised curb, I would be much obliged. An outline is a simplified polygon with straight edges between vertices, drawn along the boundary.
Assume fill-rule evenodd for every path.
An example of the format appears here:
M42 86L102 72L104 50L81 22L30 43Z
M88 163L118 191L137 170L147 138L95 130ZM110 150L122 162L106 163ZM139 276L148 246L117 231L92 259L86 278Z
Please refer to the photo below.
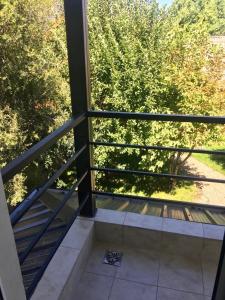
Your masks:
M123 252L121 267L103 264L105 250ZM74 299L210 300L217 260L96 242Z

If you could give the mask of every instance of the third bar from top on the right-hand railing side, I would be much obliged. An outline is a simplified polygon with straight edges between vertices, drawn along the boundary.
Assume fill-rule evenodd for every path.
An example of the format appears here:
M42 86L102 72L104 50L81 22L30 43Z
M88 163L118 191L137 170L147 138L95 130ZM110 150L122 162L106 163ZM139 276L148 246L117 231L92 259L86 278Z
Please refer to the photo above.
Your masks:
M142 175L142 176L151 176L151 177L160 177L160 178L173 178L178 180L185 181L204 181L204 182L215 182L215 183L225 183L224 179L214 179L214 178L204 178L198 176L186 176L186 175L174 175L174 174L164 174L164 173L152 173L148 171L134 171L134 170L125 170L125 169L112 169L112 168L97 168L92 167L92 171L104 172L104 173L120 173L120 174L131 174L131 175Z

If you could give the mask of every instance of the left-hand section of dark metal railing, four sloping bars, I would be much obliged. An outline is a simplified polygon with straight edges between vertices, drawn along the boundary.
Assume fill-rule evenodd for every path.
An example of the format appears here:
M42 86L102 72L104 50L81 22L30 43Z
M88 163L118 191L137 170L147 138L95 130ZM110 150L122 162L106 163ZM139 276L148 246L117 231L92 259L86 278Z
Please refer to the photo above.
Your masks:
M65 134L69 131L74 130L77 126L82 124L86 120L85 114L80 114L77 117L68 120L63 126L49 134L46 138L41 140L39 143L31 147L29 150L24 152L21 156L13 160L9 163L5 168L1 170L3 182L7 183L14 175L21 172L29 163L34 161L38 158L42 153L47 151L52 145L54 145L60 138L62 138ZM12 226L16 226L21 218L26 214L26 212L38 201L41 196L50 188L52 187L53 183L76 161L82 158L86 154L86 149L88 144L81 145L81 148L78 149L68 160L64 163L48 180L47 182L40 187L36 193L32 193L28 196L20 205L19 207L10 215L11 224ZM74 182L72 187L65 193L64 198L60 205L54 208L51 212L50 216L48 217L47 221L41 226L40 230L29 240L26 249L19 255L20 265L22 266L25 262L26 258L29 256L31 251L34 247L38 244L41 238L44 236L45 232L49 229L51 224L54 222L56 217L65 207L73 193L79 189L79 186L88 176L90 170L85 170L82 175L79 175L77 181ZM86 190L86 193L82 195L79 199L79 207L78 209L74 210L72 217L70 218L69 222L67 222L65 230L62 232L56 245L54 245L53 249L51 250L48 258L43 263L40 270L35 275L32 284L30 285L29 289L26 291L27 296L30 297L34 288L36 287L38 281L40 280L43 272L45 271L48 263L50 262L51 258L55 254L58 246L60 245L61 241L65 237L66 233L68 232L70 226L73 224L74 220L78 215L80 215L81 211L84 209L85 205L87 205L88 200L91 197L91 190ZM91 215L91 212L89 212Z

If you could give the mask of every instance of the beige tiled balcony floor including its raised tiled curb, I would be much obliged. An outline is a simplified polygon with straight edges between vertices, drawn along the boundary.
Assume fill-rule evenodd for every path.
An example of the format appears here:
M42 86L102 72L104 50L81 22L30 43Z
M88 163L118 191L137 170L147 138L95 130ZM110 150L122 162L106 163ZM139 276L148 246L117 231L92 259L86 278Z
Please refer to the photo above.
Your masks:
M98 209L79 217L32 300L210 300L223 226ZM121 266L103 264L106 250Z

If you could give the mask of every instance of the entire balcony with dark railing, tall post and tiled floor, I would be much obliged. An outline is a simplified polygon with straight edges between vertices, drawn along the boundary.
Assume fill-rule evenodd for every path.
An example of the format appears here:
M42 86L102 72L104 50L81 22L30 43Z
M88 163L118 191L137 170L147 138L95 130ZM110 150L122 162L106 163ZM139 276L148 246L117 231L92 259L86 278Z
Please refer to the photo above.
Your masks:
M159 181L225 184L225 180L95 166L91 153L98 146L182 153L190 149L94 141L91 124L94 118L115 118L224 125L225 117L91 110L83 3L65 1L72 118L1 170L5 184L68 132L74 132L73 155L41 187L34 187L10 216L0 182L1 240L5 241L0 253L1 297L224 300L224 206L98 191L94 176L101 172ZM225 155L223 151L192 151ZM70 190L55 189L54 182L74 163L76 179ZM134 204L136 211L132 212ZM106 255L107 251L112 253Z

